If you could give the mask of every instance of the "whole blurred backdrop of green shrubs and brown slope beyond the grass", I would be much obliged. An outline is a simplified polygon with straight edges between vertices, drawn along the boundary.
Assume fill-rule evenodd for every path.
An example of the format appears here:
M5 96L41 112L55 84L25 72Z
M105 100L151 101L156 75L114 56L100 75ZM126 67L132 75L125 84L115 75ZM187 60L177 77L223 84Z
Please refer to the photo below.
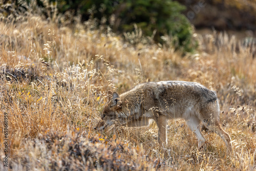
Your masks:
M5 0L0 5L0 15L5 18L14 16L20 20L18 13L26 13L36 5L41 7L46 18L62 15L62 20L58 20L62 25L72 24L77 18L81 23L94 19L97 27L123 34L125 40L135 46L144 39L146 43L172 46L183 53L197 50L194 27L246 30L250 31L249 36L253 36L256 30L255 0Z

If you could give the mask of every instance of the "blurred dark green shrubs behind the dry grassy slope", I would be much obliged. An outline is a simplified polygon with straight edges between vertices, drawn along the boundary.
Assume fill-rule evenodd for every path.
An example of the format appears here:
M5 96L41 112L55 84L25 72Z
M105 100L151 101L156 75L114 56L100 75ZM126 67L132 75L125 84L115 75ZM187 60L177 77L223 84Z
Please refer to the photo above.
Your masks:
M4 2L8 11L9 1ZM26 0L29 5L31 0ZM46 1L37 0L37 5L42 9L47 8ZM193 26L189 23L182 11L186 9L179 2L172 0L50 0L48 4L57 7L58 14L66 15L67 20L72 20L69 16L80 16L81 22L90 18L95 18L98 25L107 25L115 33L127 33L141 29L143 36L151 37L155 42L175 46L183 52L193 52L197 48L197 42L193 39ZM10 3L16 8L26 9L24 1ZM2 5L3 6L3 5ZM53 13L52 11L51 13ZM11 10L7 14L12 13ZM50 13L45 12L46 17ZM136 27L134 26L136 24ZM171 41L166 41L169 36ZM162 38L161 38L162 37ZM168 40L169 40L168 39ZM135 42L134 42L135 43ZM169 45L171 44L171 45Z

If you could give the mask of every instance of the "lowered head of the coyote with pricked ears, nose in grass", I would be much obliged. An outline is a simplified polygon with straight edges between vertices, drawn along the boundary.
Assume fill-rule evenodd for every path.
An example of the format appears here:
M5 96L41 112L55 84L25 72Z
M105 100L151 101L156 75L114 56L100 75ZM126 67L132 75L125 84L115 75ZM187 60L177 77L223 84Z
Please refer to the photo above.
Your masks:
M105 104L101 113L101 119L95 129L103 130L106 126L113 124L121 125L126 123L126 117L121 116L124 114L122 101L117 92L108 91L108 102Z

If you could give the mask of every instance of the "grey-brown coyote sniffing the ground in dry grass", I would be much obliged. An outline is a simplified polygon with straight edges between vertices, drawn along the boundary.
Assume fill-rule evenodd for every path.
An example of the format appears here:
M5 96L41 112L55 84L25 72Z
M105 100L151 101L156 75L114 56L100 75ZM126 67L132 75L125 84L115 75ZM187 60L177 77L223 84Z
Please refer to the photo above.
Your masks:
M158 142L166 142L168 119L183 118L198 139L198 147L206 142L201 125L218 134L232 152L231 139L220 123L220 109L215 91L196 82L160 81L138 84L132 90L119 95L108 92L101 119L96 126L102 130L110 125L145 126L150 119L158 126Z

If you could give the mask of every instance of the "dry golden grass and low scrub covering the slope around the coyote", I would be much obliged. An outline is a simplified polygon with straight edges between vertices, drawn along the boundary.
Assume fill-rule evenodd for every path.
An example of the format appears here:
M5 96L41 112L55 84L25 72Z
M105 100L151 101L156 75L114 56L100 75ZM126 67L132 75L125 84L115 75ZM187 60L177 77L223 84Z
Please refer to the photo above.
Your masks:
M196 35L198 54L182 56L142 44L139 30L128 34L138 42L133 46L104 25L95 29L93 20L65 27L56 18L28 13L22 22L0 23L0 170L6 169L5 112L9 170L256 169L254 46L213 32ZM179 119L168 122L164 149L154 123L94 130L108 90L160 80L196 81L217 91L233 155L212 133L204 133L209 143L199 150Z

